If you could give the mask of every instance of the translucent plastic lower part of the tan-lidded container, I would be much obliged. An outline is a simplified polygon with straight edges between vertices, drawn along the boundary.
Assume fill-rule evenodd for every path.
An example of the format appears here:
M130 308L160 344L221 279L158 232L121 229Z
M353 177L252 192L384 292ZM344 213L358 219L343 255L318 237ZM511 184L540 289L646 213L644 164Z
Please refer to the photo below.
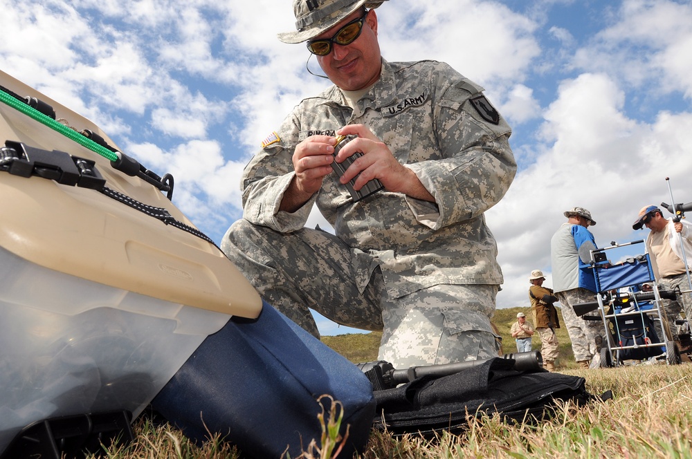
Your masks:
M35 265L0 248L0 451L26 425L136 417L230 315Z

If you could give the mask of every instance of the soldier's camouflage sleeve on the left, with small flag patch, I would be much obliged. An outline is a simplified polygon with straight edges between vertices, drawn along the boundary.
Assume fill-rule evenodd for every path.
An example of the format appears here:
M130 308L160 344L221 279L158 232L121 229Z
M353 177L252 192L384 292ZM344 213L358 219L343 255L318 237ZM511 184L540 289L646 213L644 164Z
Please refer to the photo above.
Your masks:
M284 192L291 184L293 151L298 144L298 123L291 113L278 131L264 140L263 148L248 162L243 171L243 217L279 232L292 232L302 228L315 203L313 196L296 212L279 210Z

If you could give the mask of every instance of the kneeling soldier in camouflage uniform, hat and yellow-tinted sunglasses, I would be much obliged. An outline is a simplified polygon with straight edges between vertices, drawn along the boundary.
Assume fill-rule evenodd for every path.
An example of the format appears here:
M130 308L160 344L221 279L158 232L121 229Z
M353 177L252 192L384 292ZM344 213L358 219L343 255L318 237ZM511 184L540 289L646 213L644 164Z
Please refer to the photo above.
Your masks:
M482 88L441 62L385 61L381 1L294 0L297 32L334 83L302 100L242 178L244 218L221 245L275 308L383 330L395 368L498 355L502 283L484 212L516 174L511 129ZM336 158L337 135L357 135ZM340 176L332 162L363 156ZM354 200L379 179L384 189ZM316 204L336 234L304 227Z

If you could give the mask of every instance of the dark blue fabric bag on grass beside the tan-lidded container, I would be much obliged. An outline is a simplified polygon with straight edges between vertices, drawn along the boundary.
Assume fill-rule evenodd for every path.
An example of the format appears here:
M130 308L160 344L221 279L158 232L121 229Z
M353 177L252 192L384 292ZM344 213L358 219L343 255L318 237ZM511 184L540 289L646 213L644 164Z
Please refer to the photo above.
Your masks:
M372 386L358 367L264 303L254 321L231 319L203 341L152 401L152 408L195 442L220 433L244 454L292 458L320 446L329 394L343 404L341 457L361 452L375 413ZM329 400L322 400L327 409Z

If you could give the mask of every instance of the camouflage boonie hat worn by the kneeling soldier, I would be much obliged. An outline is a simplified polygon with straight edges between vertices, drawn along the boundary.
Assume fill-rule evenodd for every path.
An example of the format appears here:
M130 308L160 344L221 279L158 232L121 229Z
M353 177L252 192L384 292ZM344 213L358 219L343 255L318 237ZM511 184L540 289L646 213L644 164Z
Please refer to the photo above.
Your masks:
M284 43L302 43L334 27L352 12L365 5L377 8L387 0L293 0L296 32L277 36Z

